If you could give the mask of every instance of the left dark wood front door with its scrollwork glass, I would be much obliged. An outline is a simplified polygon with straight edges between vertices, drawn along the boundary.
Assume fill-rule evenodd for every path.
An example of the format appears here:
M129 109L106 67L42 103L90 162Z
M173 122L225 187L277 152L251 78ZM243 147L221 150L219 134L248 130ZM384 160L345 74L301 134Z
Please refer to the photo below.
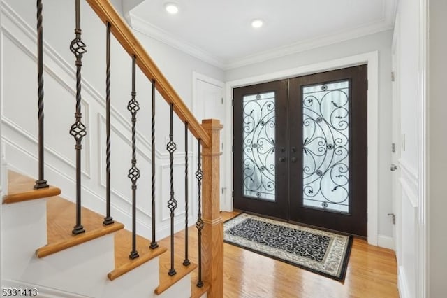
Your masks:
M234 90L234 207L286 218L287 80ZM279 166L279 164L284 166Z

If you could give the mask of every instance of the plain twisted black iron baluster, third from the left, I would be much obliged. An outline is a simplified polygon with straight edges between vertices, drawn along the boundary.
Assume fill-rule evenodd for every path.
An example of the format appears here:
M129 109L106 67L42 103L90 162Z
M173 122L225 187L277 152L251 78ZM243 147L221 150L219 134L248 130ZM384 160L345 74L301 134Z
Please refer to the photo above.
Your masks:
M106 41L105 41L105 131L106 131L106 149L105 149L105 218L104 225L113 223L110 216L110 22L107 22Z

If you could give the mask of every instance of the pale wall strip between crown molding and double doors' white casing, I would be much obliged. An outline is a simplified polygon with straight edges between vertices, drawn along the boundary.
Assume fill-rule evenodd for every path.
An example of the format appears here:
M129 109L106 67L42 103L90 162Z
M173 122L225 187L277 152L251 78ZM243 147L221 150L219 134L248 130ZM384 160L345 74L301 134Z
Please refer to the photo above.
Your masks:
M392 31L383 31L342 43L298 52L266 62L231 69L226 80L238 80L273 73L342 57L379 51L379 235L388 238L393 235L387 213L392 211L390 190L390 143L391 143L391 41ZM383 237L382 237L383 239Z

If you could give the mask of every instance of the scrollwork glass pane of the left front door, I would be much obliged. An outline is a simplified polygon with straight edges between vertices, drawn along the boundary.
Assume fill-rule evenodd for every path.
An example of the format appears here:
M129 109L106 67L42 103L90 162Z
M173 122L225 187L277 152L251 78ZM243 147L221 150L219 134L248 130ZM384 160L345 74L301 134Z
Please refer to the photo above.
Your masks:
M242 192L244 197L274 201L274 92L243 99Z

